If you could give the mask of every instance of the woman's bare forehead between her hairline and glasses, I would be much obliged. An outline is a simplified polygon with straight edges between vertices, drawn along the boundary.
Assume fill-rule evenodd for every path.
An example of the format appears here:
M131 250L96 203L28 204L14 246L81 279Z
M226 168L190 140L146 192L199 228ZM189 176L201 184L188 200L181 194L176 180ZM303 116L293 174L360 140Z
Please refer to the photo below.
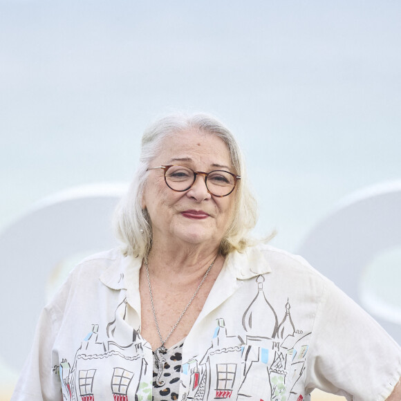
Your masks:
M211 133L198 130L171 133L162 141L161 151L156 159L164 164L183 160L194 162L197 166L221 165L232 167L230 151L224 140Z

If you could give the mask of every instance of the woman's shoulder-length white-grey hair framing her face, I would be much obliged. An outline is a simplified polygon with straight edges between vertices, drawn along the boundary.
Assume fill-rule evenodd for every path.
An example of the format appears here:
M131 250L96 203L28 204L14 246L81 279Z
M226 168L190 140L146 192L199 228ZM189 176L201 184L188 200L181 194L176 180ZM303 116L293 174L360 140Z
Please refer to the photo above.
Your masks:
M174 113L156 120L144 131L138 169L129 191L115 210L115 232L118 239L122 241L124 254L143 258L149 252L152 227L147 209L142 209L142 195L148 176L147 169L168 136L189 129L196 129L223 139L230 151L235 174L241 176L234 192L235 207L232 223L221 241L221 254L226 255L234 250L241 252L253 242L249 233L257 223L257 202L250 191L245 162L236 139L230 130L212 115Z

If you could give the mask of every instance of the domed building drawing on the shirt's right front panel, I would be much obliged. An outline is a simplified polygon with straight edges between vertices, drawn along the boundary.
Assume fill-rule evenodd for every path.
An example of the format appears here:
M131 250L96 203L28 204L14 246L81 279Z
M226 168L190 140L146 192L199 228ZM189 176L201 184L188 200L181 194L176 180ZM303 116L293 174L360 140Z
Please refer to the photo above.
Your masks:
M255 389L261 401L298 399L299 394L291 390L304 372L310 333L295 328L289 300L279 323L265 296L264 281L263 276L257 277L257 294L243 313L245 341L227 335L224 319L217 319L212 346L202 357L183 364L182 401L250 400Z

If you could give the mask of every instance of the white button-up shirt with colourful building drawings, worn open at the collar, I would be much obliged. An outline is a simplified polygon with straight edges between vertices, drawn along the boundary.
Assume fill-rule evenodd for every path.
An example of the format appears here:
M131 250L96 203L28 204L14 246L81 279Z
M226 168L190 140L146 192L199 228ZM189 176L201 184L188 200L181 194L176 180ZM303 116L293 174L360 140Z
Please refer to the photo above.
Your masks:
M12 401L151 401L140 335L142 261L118 249L82 261L44 308ZM331 281L259 245L232 252L185 339L178 400L385 400L401 350Z

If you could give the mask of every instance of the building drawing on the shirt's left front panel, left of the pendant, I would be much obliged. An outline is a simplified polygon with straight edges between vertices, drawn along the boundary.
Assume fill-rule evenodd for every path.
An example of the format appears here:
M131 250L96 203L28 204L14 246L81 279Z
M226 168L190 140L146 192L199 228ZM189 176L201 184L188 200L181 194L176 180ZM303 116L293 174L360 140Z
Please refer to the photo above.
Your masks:
M104 394L105 390L114 401L151 400L151 383L144 382L148 366L143 339L133 330L128 344L121 339L115 341L119 337L115 321L125 315L124 308L126 300L118 306L115 320L105 330L106 341L98 340L99 326L93 324L75 354L73 365L66 360L59 365L64 400L95 401L96 393ZM97 360L102 363L97 364Z

